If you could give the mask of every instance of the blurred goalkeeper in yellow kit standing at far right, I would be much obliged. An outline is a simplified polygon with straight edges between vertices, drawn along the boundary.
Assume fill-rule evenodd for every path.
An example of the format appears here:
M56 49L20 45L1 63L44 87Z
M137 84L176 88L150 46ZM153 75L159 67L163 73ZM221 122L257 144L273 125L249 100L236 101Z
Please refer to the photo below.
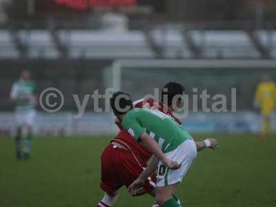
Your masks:
M270 75L264 75L263 81L257 85L255 92L255 108L259 108L263 116L262 131L259 139L272 132L271 115L276 103L276 86Z

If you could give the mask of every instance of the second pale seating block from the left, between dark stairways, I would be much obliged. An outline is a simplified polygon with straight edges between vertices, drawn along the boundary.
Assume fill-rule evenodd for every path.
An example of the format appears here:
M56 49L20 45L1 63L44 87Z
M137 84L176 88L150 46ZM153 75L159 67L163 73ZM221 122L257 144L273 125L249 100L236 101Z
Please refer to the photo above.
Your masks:
M18 34L21 43L28 47L28 57L59 57L59 52L55 48L50 32L47 30L20 30Z

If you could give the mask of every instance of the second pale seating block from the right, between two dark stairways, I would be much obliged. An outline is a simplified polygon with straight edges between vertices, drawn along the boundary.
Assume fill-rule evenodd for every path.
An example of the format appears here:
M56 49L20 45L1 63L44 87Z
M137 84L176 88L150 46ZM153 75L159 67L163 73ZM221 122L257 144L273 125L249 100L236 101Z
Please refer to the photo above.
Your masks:
M260 54L243 31L193 30L195 44L206 58L259 58Z

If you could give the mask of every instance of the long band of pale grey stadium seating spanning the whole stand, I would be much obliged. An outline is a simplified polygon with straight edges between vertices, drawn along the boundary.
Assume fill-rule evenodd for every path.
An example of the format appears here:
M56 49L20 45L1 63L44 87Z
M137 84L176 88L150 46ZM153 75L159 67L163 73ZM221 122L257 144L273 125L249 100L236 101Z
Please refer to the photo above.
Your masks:
M242 30L186 30L156 26L148 32L129 30L0 30L0 59L17 58L193 58L259 59L262 46L276 58L276 31L257 30L255 39ZM188 42L187 42L188 41ZM24 50L26 49L26 50ZM196 49L196 50L195 50ZM261 50L261 52L259 51ZM160 56L161 55L161 56Z

